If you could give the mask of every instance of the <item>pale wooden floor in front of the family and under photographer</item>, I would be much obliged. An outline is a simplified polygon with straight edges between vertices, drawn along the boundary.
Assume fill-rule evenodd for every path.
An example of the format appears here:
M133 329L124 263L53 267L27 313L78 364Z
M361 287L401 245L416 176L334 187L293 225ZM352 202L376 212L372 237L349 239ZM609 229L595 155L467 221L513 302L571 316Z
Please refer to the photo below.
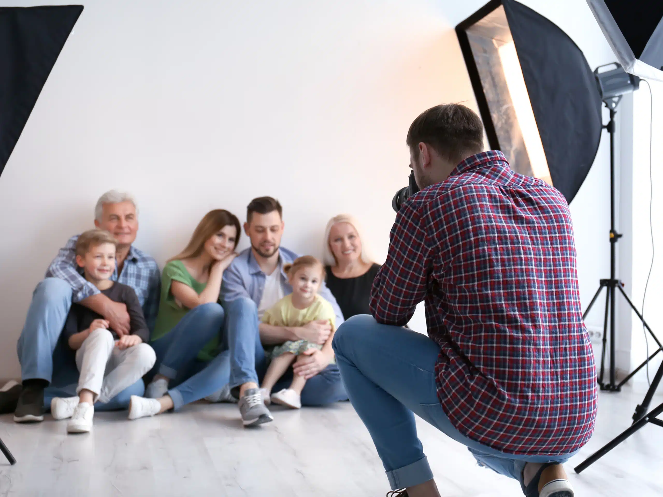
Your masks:
M576 495L663 496L663 428L649 425L585 470L577 465L630 423L642 394L601 394L593 439L567 465ZM663 402L656 396L652 406ZM9 496L384 496L387 478L349 403L277 411L243 429L237 407L194 404L178 414L127 421L95 416L93 432L67 435L66 421L18 425L0 416L17 465L0 461ZM444 496L522 495L517 482L477 467L461 445L425 423L420 438Z

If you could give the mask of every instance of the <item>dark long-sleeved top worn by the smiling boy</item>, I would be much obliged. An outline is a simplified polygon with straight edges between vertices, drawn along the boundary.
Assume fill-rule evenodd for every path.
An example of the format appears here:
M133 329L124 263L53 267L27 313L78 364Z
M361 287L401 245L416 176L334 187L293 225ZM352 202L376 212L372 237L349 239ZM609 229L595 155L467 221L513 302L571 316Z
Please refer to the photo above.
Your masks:
M143 315L143 308L141 303L138 301L136 292L134 292L131 286L123 285L121 283L115 282L111 288L107 290L101 290L101 293L107 296L113 302L121 302L122 304L127 305L127 312L129 313L129 318L131 319L131 335L138 335L143 339L143 342L148 343L150 341L150 332L147 329L147 324L145 323L145 316ZM67 316L67 321L64 323L64 330L62 330L62 339L66 340L69 343L69 337L84 331L90 327L92 321L95 319L103 319L102 315L95 313L92 309L84 307L80 304L72 304L72 308L69 311ZM109 330L113 333L113 337L117 339L117 333L112 329Z

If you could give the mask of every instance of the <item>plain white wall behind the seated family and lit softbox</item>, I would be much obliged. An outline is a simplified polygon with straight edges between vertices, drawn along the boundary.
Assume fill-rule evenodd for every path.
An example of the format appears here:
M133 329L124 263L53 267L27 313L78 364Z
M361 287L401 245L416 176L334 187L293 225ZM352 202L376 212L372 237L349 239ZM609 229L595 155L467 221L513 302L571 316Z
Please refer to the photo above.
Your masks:
M19 373L34 285L109 188L135 193L137 246L160 264L206 211L243 218L258 195L284 205L285 246L320 254L327 219L347 211L383 260L412 119L475 108L453 26L483 3L86 3L0 179L0 377ZM584 1L525 3L590 66L614 60ZM607 164L603 142L572 203L584 305L607 277Z

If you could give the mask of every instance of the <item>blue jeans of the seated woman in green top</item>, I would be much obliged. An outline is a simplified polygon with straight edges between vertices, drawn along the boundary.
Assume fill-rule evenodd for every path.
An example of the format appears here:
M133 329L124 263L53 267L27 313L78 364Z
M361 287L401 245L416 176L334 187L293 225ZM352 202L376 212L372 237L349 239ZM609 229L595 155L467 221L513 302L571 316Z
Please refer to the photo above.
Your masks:
M156 363L148 376L158 373L172 380L168 395L174 410L213 394L227 384L230 376L227 351L210 361L196 359L200 349L221 335L224 315L223 307L215 302L198 305L166 335L151 343Z

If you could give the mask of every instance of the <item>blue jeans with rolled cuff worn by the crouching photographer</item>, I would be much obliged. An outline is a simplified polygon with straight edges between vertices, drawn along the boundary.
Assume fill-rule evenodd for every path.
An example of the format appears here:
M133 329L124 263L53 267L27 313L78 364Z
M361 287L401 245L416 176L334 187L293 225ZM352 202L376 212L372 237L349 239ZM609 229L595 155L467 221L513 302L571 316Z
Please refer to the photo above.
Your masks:
M461 435L438 400L435 365L440 346L426 335L357 315L336 331L333 349L350 402L371 433L392 490L433 478L414 414L465 445L479 465L521 485L525 463L563 463L574 454L505 454Z

